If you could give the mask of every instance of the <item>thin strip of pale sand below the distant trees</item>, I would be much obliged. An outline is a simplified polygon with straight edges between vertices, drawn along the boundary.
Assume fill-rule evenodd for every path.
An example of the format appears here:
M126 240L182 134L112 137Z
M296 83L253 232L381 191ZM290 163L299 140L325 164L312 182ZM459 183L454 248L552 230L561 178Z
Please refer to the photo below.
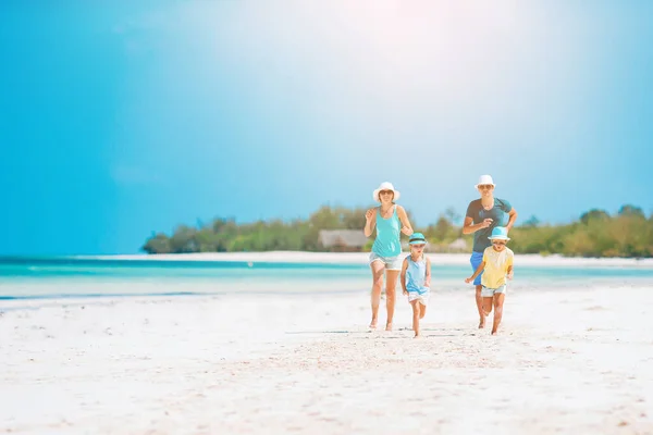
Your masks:
M407 254L404 252L404 254ZM429 253L431 260L442 265L469 265L468 253ZM274 263L331 263L331 264L367 264L367 252L198 252L198 253L160 253L116 254L116 256L76 256L78 259L98 260L135 260L135 261L245 261ZM519 264L532 266L583 266L583 268L645 268L653 269L653 259L625 258L568 258L562 256L519 254Z

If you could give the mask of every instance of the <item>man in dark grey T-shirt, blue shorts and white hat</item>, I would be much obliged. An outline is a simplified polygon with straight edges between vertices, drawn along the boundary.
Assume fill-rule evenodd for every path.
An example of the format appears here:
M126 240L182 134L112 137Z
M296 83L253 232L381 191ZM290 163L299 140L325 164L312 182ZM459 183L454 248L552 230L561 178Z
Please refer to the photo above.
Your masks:
M463 224L463 234L473 234L473 248L469 259L471 269L476 271L483 260L483 251L492 243L488 237L492 235L492 229L497 226L504 226L507 232L510 231L517 220L517 211L505 199L494 197L494 181L490 175L481 175L479 183L475 186L481 198L475 199L467 207L465 223ZM485 327L485 316L488 313L483 310L483 297L481 290L481 275L476 276L473 284L476 286L476 301L479 311L479 328Z

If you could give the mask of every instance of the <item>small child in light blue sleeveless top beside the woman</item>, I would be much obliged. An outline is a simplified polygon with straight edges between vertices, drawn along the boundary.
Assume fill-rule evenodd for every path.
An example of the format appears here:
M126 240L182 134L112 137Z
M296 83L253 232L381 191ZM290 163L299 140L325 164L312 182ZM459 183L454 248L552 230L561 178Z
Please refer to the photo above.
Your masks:
M412 331L415 338L419 337L419 320L427 313L427 304L431 294L431 260L424 257L427 239L421 233L412 233L410 256L404 259L402 265L402 287L408 302L412 306Z

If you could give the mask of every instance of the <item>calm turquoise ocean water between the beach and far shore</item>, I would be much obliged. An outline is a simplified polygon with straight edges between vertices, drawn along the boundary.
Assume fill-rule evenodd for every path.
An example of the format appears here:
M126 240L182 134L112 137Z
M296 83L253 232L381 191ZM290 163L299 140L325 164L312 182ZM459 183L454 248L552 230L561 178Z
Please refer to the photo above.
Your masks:
M432 288L465 290L471 269L433 264ZM0 258L0 299L367 293L366 264ZM517 266L515 289L653 285L653 269Z

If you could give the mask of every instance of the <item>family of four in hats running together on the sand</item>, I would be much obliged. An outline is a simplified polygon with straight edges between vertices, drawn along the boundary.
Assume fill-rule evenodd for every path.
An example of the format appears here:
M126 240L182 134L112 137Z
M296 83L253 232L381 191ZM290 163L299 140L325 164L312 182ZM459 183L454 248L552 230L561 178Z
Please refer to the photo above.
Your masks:
M475 186L480 198L467 207L463 234L473 234L470 257L472 275L465 279L476 286L476 303L479 312L479 328L485 327L485 319L494 308L492 334L497 333L506 296L506 279L513 278L513 251L506 246L508 232L515 225L517 211L505 199L494 197L494 181L481 175ZM370 252L372 271L372 321L377 328L383 274L387 320L385 331L392 331L395 306L395 289L401 276L404 295L412 306L412 330L420 336L419 321L427 312L431 287L431 260L424 256L427 239L422 233L412 231L406 210L398 206L399 191L392 183L382 183L372 197L380 204L366 212L365 235L370 237L375 229L374 244ZM401 235L409 237L410 253L402 256Z

